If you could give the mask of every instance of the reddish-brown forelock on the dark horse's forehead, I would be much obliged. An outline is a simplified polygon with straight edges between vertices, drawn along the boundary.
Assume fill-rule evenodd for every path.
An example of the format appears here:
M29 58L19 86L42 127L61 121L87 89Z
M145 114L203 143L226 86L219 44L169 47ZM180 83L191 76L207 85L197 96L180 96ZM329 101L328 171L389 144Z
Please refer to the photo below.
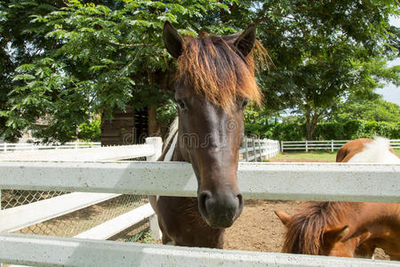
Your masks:
M262 94L254 78L252 53L244 57L222 36L186 36L184 40L177 80L223 109L240 98L260 105ZM262 52L260 44L256 47Z

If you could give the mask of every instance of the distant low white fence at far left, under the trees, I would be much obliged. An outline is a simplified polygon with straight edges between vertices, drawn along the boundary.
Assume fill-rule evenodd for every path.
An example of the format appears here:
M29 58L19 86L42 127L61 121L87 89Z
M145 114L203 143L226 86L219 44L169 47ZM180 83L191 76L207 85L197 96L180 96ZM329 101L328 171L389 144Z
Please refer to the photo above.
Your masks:
M65 142L63 144L36 144L31 142L2 142L0 152L12 152L23 150L66 150L66 149L87 149L98 148L100 142Z

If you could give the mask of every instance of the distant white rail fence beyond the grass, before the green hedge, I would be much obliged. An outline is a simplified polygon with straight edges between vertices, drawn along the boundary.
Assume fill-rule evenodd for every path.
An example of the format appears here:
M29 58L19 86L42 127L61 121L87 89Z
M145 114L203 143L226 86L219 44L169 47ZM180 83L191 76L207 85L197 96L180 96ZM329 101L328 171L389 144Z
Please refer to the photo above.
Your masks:
M330 141L281 141L281 152L284 150L339 150L342 145L350 140L330 140ZM400 139L390 140L390 145L394 149L400 149Z

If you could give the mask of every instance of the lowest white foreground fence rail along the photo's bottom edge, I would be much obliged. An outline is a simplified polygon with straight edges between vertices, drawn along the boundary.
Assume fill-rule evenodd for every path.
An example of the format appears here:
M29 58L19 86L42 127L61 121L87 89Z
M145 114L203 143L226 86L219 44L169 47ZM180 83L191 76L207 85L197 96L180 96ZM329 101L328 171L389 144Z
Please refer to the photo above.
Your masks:
M23 253L21 253L23 252ZM399 266L377 261L129 242L0 235L0 262L36 266Z

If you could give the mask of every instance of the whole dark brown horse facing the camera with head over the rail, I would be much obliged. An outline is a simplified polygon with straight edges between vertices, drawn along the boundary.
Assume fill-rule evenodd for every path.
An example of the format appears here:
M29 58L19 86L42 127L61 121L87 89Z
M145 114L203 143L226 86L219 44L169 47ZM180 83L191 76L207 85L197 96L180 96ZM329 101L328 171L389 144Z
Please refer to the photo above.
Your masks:
M251 53L255 26L232 36L182 38L166 21L163 34L167 51L178 60L178 119L159 160L190 163L198 187L197 198L149 200L164 244L222 248L224 229L243 209L236 170L244 108L261 100Z

